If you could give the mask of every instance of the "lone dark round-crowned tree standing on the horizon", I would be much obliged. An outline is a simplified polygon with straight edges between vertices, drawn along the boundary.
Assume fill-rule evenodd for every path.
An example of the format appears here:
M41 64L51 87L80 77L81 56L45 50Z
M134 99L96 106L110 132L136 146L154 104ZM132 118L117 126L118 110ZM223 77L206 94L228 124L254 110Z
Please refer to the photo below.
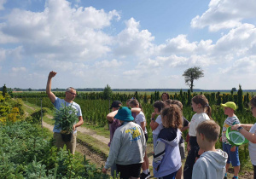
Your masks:
M203 70L199 66L190 67L183 73L183 77L185 77L185 84L189 85L191 92L193 92L194 80L203 76Z

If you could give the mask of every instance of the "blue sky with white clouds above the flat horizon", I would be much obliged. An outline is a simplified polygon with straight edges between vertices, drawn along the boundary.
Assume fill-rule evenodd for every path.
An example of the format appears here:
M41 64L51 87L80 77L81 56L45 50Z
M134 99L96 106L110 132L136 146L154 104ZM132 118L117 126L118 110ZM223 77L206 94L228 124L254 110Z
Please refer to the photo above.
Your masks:
M0 86L255 90L255 0L0 0Z

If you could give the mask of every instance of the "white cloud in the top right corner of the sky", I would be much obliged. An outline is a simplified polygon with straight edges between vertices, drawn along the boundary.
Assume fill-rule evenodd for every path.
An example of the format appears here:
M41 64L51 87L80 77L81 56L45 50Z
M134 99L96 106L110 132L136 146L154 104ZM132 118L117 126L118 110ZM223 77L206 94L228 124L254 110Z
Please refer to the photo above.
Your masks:
M254 0L212 0L209 9L191 20L194 28L209 26L210 31L241 26L241 20L256 17Z

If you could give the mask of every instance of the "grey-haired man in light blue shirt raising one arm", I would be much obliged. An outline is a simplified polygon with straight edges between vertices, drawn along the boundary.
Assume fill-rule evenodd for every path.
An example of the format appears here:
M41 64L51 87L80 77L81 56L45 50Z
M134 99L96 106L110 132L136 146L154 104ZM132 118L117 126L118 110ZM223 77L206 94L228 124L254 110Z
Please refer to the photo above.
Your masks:
M79 122L77 124L73 124L73 138L71 141L63 141L61 138L61 129L57 129L54 127L54 141L56 147L64 147L66 144L67 150L70 150L70 153L75 153L76 149L76 141L77 141L77 130L76 128L80 125L84 124L84 120L82 117L82 111L79 104L74 102L74 98L77 95L76 90L72 87L67 88L66 96L64 99L58 98L51 92L51 79L55 77L57 72L49 72L48 81L46 85L46 94L49 96L49 100L53 103L56 109L60 109L62 105L66 105L67 107L72 105L72 107L77 111L77 116L79 118Z

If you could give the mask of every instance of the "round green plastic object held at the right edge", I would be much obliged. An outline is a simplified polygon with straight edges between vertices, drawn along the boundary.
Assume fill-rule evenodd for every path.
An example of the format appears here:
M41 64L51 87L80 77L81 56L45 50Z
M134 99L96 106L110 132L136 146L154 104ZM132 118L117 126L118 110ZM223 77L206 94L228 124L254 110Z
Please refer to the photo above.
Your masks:
M247 138L241 135L240 132L236 130L231 130L231 127L228 127L228 129L226 130L226 137L230 142L230 144L232 145L232 147L233 146L238 147L238 146L241 146L242 144L249 142Z

